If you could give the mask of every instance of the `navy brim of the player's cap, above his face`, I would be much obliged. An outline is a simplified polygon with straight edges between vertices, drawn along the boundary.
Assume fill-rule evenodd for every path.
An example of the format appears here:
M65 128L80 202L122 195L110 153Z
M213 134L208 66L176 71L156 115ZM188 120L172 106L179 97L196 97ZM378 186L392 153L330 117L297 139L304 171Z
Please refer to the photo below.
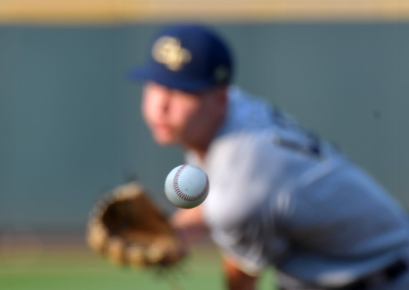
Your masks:
M163 75L162 71L158 72L150 65L144 65L131 70L129 77L131 80L137 81L154 81L165 87L189 93L204 91L213 86L213 83L208 80L182 79L180 76L174 76L171 72Z

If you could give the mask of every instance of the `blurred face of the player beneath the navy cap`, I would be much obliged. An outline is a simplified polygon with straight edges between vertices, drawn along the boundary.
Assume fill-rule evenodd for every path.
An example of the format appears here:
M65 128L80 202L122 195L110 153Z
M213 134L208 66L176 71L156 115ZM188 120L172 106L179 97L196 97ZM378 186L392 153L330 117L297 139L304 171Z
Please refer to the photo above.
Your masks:
M209 131L212 116L219 111L215 94L194 95L153 82L144 87L142 115L161 145L200 146L198 143L206 142L203 136Z

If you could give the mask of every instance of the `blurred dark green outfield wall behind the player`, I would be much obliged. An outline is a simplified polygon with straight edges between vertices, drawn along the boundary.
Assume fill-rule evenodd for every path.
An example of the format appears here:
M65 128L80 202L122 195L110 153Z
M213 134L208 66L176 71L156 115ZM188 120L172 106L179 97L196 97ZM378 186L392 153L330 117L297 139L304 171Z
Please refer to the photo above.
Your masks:
M236 84L336 142L409 207L409 24L215 27ZM126 76L157 28L0 27L0 235L82 233L98 196L133 174L163 198L182 155L153 143Z

